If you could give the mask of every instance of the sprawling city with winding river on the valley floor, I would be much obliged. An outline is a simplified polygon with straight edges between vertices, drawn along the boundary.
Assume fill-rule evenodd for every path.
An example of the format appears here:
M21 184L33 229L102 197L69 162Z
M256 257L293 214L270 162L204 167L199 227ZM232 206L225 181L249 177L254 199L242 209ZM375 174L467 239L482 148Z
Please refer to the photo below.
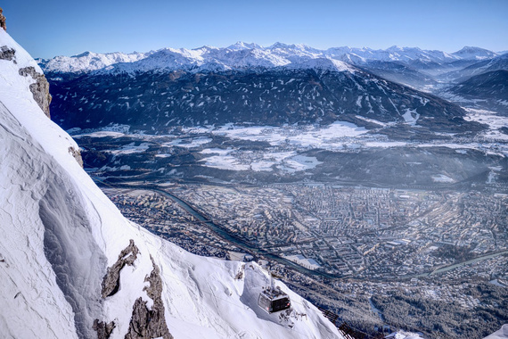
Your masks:
M135 181L103 190L152 232L196 254L258 260L359 328L397 327L392 309L414 308L410 324L431 331L416 299L445 324L468 310L458 314L477 326L508 285L508 194Z

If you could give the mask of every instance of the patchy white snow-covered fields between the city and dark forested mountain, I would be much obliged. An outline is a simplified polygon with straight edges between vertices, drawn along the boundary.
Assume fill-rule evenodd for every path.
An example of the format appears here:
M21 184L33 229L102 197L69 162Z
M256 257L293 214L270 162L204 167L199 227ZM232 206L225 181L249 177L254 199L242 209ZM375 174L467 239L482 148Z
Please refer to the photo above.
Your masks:
M124 126L111 126L100 131L80 134L74 130L75 137L91 136L95 138L111 137L123 140L130 137L135 143L129 143L117 148L105 150L113 155L143 153L150 145L159 150L158 158L170 157L176 148L201 153L201 165L219 170L254 170L279 171L296 173L315 169L321 162L315 157L305 155L313 149L332 152L356 153L365 149L392 147L447 147L456 153L466 155L468 150L478 150L485 154L501 157L508 156L508 135L502 128L508 126L508 118L484 110L467 109L467 120L486 124L488 129L478 136L464 137L453 134L438 135L446 138L430 139L429 141L394 141L381 134L383 128L391 128L393 124L368 120L380 128L367 130L355 124L337 121L328 126L239 126L226 124L224 126L203 126L197 128L181 128L168 135L128 134ZM404 123L415 128L419 115L416 112L406 112ZM364 119L366 120L366 119ZM127 133L126 133L127 132ZM219 139L218 144L215 137ZM121 138L121 139L120 139ZM229 140L223 142L222 140ZM235 146L234 142L266 143L264 149L250 148L249 144ZM226 146L223 146L226 145ZM176 152L178 153L178 152ZM111 167L112 168L112 167ZM107 169L104 169L107 170ZM434 182L445 183L446 178L433 178Z

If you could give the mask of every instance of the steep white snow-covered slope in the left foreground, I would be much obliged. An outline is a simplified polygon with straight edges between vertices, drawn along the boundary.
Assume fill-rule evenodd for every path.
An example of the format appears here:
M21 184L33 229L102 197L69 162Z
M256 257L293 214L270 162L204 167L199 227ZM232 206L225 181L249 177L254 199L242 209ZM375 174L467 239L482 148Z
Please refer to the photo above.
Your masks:
M15 50L0 60L2 337L93 338L95 319L111 338L341 337L283 283L290 318L260 310L267 276L255 263L195 256L123 218L33 99L19 70L37 63L0 29L2 46ZM115 268L119 285L107 285Z

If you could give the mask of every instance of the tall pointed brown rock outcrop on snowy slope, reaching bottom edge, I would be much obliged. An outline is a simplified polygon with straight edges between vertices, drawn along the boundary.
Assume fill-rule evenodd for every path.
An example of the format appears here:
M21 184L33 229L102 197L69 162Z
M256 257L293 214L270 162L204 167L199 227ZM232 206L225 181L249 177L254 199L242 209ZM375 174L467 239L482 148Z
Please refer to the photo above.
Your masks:
M169 333L166 318L164 318L164 303L162 302L162 279L160 278L160 269L153 261L153 270L150 276L144 278L150 286L145 286L143 291L153 300L152 310L148 310L146 302L140 297L133 307L132 318L128 327L126 339L150 339L162 337L163 339L173 339Z

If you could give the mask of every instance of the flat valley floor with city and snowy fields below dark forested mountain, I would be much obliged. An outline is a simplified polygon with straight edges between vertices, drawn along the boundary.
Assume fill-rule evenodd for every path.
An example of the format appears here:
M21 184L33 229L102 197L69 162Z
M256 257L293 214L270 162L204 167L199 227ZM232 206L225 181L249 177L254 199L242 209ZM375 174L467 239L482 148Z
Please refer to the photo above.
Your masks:
M508 321L506 118L71 130L127 218L190 252L257 260L368 335L482 337ZM407 128L406 128L407 127Z

